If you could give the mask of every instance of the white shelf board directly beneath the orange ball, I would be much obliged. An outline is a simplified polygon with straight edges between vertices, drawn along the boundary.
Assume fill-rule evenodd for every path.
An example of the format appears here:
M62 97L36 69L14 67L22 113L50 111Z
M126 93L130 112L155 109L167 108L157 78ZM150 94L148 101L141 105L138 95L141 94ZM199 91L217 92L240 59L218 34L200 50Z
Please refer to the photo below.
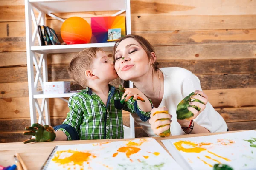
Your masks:
M46 45L46 46L32 46L31 51L40 53L40 54L49 54L49 53L71 53L71 52L80 52L85 48L89 47L99 47L105 51L112 51L115 42L107 43L90 43L90 44L72 44L72 45Z

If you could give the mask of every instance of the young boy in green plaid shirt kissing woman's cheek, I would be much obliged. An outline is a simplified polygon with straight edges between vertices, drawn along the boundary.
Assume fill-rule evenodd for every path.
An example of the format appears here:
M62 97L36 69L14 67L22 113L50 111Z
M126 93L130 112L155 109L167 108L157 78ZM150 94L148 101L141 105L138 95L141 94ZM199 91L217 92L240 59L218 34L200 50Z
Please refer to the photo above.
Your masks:
M62 125L54 127L38 123L26 127L23 135L33 135L29 142L57 140L89 140L123 138L122 109L149 117L151 101L137 88L115 88L108 83L118 76L105 52L96 47L87 48L77 54L68 68L75 82L86 89L73 94L68 106L70 112ZM123 97L122 97L123 96ZM133 98L131 98L133 96ZM136 100L144 98L145 101ZM125 99L125 103L121 103ZM122 101L123 102L123 101ZM56 132L55 132L56 131Z

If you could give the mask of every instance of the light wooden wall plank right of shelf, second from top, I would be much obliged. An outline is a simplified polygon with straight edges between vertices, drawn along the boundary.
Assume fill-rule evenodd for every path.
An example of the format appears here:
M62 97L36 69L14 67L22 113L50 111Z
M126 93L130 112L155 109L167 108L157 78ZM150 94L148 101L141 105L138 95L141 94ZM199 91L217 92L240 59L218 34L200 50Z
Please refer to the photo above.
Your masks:
M132 31L254 29L256 15L131 14ZM164 23L164 24L163 24Z

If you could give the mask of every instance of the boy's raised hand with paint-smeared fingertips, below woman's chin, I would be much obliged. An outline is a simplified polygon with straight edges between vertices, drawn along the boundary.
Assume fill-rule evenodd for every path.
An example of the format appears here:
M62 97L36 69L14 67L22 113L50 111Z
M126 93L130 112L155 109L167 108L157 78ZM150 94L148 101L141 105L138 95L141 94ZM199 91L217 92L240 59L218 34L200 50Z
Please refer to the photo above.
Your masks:
M141 92L137 88L123 88L122 85L119 85L119 90L124 91L121 103L128 101L132 96L134 100L141 100L142 102L145 102L145 100L139 96Z

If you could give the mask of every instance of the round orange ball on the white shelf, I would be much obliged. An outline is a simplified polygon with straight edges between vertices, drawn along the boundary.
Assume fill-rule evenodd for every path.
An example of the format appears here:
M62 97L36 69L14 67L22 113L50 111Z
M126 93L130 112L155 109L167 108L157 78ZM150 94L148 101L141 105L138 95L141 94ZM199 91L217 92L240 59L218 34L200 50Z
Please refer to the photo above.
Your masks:
M92 28L81 17L70 17L61 26L61 38L66 44L87 44L92 37Z

